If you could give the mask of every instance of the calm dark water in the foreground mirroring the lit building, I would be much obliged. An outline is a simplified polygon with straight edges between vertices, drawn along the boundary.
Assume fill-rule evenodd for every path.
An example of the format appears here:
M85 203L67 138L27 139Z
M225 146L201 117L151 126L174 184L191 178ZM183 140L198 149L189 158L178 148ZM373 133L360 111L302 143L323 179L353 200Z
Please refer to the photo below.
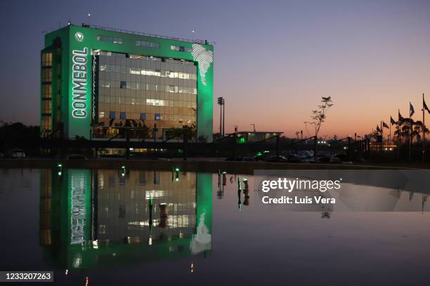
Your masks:
M58 285L429 284L426 193L365 190L417 212L286 212L240 177L0 170L0 270L53 270Z

